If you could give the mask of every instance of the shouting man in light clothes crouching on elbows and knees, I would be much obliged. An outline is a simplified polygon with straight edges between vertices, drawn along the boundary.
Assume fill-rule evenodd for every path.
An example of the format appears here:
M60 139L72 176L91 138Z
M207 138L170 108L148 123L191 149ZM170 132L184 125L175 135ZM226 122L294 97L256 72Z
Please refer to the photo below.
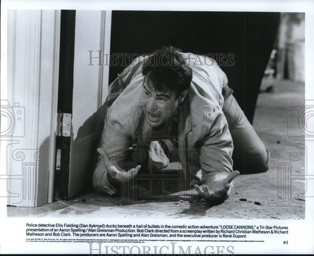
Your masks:
M136 179L140 170L149 169L154 174L158 168L151 164L153 148L163 151L160 155L166 161L161 160L161 168L176 151L187 186L194 186L209 202L229 198L232 180L239 175L232 169L233 160L240 168L246 161L253 172L268 170L266 148L213 59L163 47L135 59L109 90L117 91L112 90L117 86L122 92L107 111L97 149L93 174L96 191L112 195L123 183ZM154 147L156 143L159 147ZM143 167L123 170L116 150L127 152L135 144L146 152L146 162ZM234 144L237 154L232 155ZM195 160L191 154L194 149L199 152L197 166L191 160ZM245 151L246 155L242 153ZM185 163L194 163L192 170L184 168Z

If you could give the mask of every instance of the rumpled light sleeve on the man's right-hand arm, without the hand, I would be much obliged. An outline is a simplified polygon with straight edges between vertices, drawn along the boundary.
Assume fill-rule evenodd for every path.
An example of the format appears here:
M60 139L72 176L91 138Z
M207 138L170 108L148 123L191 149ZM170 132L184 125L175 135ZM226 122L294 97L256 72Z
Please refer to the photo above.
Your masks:
M202 134L205 136L198 141L198 146L202 152L202 181L210 187L210 183L222 180L232 172L233 142L222 110L219 108L213 111L205 107L204 111Z

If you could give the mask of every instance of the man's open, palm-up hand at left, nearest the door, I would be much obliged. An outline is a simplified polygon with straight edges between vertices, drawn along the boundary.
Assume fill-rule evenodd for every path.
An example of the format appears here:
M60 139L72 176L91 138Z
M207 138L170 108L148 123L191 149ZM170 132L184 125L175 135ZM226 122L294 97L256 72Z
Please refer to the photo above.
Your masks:
M108 175L117 182L126 182L135 177L137 175L138 171L141 169L141 166L138 165L136 168L132 168L129 171L122 170L120 167L116 167L114 162L109 158L108 153L102 149L97 148L97 152L100 153L102 158L104 159L104 163L106 165L106 168L108 170Z

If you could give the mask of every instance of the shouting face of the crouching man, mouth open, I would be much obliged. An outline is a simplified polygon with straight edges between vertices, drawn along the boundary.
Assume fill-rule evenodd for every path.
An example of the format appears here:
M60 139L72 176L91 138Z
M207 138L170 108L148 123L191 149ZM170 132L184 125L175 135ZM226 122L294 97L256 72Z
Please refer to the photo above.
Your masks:
M165 93L151 90L147 83L143 84L144 118L151 127L169 124L172 115L180 102L177 92L167 90Z

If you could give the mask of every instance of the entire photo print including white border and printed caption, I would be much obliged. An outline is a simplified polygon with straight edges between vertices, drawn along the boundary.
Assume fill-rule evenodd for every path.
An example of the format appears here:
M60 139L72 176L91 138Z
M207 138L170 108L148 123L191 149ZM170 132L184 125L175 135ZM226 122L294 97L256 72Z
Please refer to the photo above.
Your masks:
M1 13L0 196L4 218L27 219L20 239L160 242L183 229L263 247L305 223L305 11L72 7Z

